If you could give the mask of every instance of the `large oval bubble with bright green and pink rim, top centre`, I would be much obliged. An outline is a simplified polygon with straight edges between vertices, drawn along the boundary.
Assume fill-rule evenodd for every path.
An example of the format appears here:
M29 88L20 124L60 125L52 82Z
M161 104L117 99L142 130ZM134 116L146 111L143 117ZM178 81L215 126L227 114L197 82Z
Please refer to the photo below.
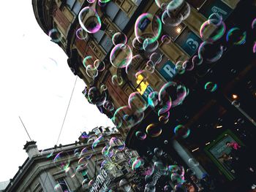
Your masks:
M162 32L162 22L157 17L157 15L151 15L150 13L143 13L141 14L136 22L135 22L135 37L140 41L140 43L144 44L144 38L140 37L140 34L142 34L142 31L140 29L140 26L144 26L145 20L151 21L151 23L155 23L155 30L153 31L153 34L151 34L151 38L147 40L146 45L151 45L153 42L156 42L157 39L159 39L161 32ZM147 47L147 46L146 46Z

